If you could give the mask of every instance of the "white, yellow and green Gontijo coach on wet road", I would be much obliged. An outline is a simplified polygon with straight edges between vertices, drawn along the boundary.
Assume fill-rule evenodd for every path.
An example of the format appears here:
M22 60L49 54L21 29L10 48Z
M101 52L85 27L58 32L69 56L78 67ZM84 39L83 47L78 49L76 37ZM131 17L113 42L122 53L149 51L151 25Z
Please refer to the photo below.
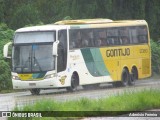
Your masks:
M134 85L151 76L145 20L63 20L20 28L3 54L12 59L13 89L29 89L32 94L50 88L95 88L101 83Z

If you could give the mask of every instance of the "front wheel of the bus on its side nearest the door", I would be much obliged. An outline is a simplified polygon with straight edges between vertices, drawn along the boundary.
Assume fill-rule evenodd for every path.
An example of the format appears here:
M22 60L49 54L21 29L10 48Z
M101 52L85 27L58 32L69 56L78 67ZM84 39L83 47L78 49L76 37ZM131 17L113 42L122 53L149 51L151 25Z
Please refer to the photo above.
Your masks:
M78 75L77 74L73 74L72 77L71 77L71 86L70 87L67 87L67 91L69 92L73 92L73 91L76 91L77 89L77 86L79 84L79 79L78 79Z

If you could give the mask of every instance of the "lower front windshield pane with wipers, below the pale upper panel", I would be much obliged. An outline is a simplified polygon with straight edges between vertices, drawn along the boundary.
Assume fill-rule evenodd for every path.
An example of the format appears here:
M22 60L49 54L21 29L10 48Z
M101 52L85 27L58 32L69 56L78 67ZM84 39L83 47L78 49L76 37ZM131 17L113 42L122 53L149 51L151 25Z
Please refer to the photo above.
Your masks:
M12 70L17 73L42 72L55 69L52 44L14 45Z

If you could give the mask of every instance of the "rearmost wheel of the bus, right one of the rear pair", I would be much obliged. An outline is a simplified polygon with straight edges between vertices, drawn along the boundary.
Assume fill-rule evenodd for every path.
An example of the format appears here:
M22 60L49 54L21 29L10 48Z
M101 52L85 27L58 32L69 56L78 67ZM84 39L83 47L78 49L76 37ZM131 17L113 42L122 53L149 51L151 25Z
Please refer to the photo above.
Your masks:
M132 68L131 70L131 74L130 74L130 79L128 81L128 84L131 86L131 85L134 85L135 84L135 81L138 79L138 71L136 68Z

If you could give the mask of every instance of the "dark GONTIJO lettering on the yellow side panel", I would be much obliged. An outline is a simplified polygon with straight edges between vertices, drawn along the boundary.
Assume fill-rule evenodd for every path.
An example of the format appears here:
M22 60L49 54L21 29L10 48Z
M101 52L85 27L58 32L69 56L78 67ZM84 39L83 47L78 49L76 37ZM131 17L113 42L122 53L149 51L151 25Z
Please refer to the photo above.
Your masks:
M130 55L130 49L109 49L106 51L107 57L116 57L116 56L129 56Z

